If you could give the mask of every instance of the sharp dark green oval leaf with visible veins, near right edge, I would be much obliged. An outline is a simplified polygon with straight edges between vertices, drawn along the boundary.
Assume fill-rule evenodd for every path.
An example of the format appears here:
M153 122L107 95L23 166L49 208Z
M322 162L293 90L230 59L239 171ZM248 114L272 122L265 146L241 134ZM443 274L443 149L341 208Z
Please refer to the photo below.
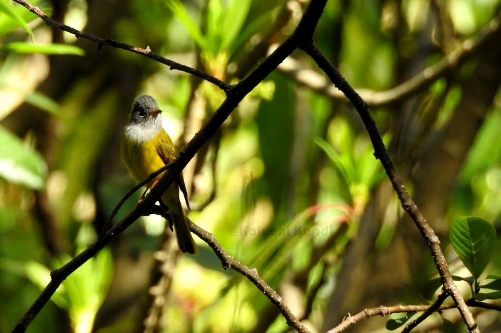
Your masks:
M494 251L496 231L492 224L480 217L458 217L452 222L449 237L466 268L479 278Z

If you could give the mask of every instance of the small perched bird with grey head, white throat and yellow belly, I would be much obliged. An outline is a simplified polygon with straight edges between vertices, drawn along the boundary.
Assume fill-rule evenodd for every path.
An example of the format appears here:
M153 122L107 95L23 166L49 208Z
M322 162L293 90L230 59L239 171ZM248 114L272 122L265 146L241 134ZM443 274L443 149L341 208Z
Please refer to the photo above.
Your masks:
M149 95L139 95L132 103L129 122L125 126L120 144L123 164L137 180L147 178L176 158L171 137L162 127L162 111L155 99ZM151 180L147 189L156 185L162 174ZM147 190L146 189L146 190ZM176 230L178 247L181 252L196 254L197 246L193 241L190 228L181 207L179 190L183 193L187 207L188 195L183 175L180 173L169 188L162 194L160 205L166 207L169 226ZM141 197L143 199L144 194Z

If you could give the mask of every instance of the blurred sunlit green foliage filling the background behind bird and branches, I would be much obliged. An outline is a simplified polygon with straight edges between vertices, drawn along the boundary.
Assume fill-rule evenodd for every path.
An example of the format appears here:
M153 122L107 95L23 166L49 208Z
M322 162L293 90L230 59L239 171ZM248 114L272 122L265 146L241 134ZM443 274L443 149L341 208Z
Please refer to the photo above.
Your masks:
M31 3L47 14L57 12L49 1ZM304 10L304 2L281 0L117 3L72 0L64 22L100 37L150 46L155 53L229 83L248 74L268 47L283 41ZM442 3L452 25L452 44L474 36L499 7L497 0ZM440 29L431 19L438 17L434 11L428 0L329 0L314 39L354 87L385 90L443 56L446 47L439 34L429 33ZM225 98L207 82L138 55L108 47L97 50L67 33L57 41L54 36L25 8L0 0L0 331L15 325L46 285L51 269L95 240L132 186L120 162L119 141L134 96L155 97L164 111L164 128L179 143L189 140ZM293 57L303 68L316 70L302 53ZM475 58L457 73L438 79L416 93L412 103L371 110L397 168L409 188L416 189L414 195L426 193L417 192L413 182L434 182L433 175L415 178L419 162L441 146L440 140L432 140L457 115L470 93L464 82L479 63ZM499 101L498 94L473 134L472 146L465 147L460 171L443 198L445 221L475 215L499 227ZM423 129L428 132L419 133ZM347 247L357 241L362 217L371 213L366 208L386 182L353 108L299 86L277 70L240 103L202 150L184 171L194 208L188 216L214 233L228 253L257 269L294 311L300 313L319 286L309 321L321 327ZM436 177L443 171L434 170ZM139 195L126 202L117 220L135 206ZM211 200L205 204L207 198ZM371 245L377 251L364 258L371 264L401 232L403 213L396 198L383 206L382 216L369 218L374 225L382 223ZM474 226L482 231L480 224ZM153 252L164 227L157 216L142 217L73 273L28 331L134 331L144 319ZM478 234L469 236L475 245ZM497 236L490 232L489 237L488 248L475 245L472 253L465 247L458 250L451 237L474 278L452 267L456 281L498 293L497 277L480 276L484 270L501 271L493 247ZM443 244L450 252L447 241ZM284 331L286 323L269 301L244 277L222 270L214 253L199 245L198 256L180 256L172 269L163 331ZM471 264L471 255L482 251L492 255L491 260L482 254L481 265L478 260ZM422 256L427 255L424 250ZM433 270L429 261L426 271ZM425 274L409 275L408 281L401 281L405 286ZM440 281L432 279L427 298L439 286ZM406 289L395 303L417 299L417 289ZM377 290L373 296L383 298ZM408 319L393 318L387 328L400 327Z

